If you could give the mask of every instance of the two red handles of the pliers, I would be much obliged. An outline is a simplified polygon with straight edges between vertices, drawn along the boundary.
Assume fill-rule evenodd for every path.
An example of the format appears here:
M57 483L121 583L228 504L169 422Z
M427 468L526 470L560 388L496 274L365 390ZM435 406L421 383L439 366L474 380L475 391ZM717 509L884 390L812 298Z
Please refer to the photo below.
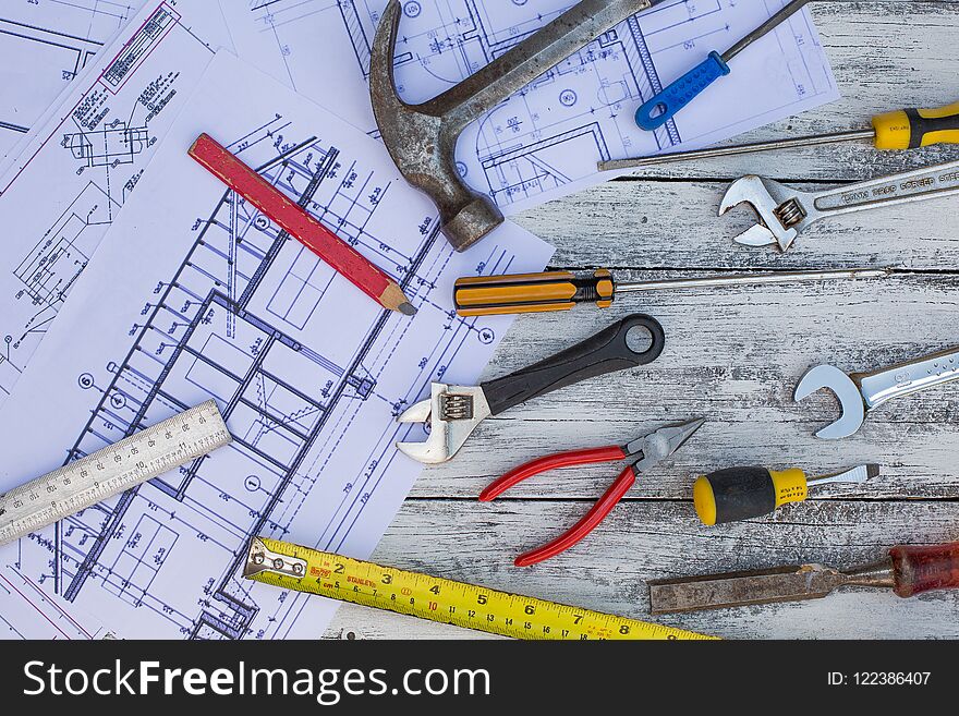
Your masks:
M549 470L556 470L557 468L571 468L573 465L588 465L598 462L614 462L616 460L622 460L626 457L626 451L623 451L621 447L614 445L605 448L591 448L588 450L571 450L569 452L559 452L557 454L539 458L538 460L533 460L511 470L499 480L490 483L486 489L480 493L480 501L488 502L524 480ZM629 465L619 474L616 482L612 483L609 489L604 493L603 497L600 497L590 511L586 512L582 520L576 522L556 539L517 557L514 561L515 566L530 567L531 565L536 565L551 557L556 557L556 555L572 547L606 519L606 515L612 511L612 508L616 507L617 502L622 499L622 496L629 492L630 487L632 487L635 482L636 473L633 470L633 466Z

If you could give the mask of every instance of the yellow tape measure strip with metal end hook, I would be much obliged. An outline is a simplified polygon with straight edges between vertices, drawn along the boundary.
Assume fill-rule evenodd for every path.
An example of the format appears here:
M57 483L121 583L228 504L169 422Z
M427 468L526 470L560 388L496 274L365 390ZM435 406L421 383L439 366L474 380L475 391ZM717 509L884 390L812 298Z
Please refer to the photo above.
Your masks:
M243 575L284 590L514 639L712 639L265 537L250 545Z

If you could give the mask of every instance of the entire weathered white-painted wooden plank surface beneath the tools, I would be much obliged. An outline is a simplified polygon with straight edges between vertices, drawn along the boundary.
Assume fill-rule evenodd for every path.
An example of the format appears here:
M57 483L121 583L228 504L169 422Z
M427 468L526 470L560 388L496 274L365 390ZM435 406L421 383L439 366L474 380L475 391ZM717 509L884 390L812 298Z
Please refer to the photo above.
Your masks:
M959 99L950 52L959 2L813 3L843 98L749 138L867 126L902 106ZM667 349L653 365L533 401L493 418L457 460L426 470L375 558L560 602L645 618L645 581L799 561L851 566L891 545L959 538L959 387L878 409L853 438L812 433L838 416L828 395L791 400L816 363L871 369L959 343L959 213L956 199L821 222L785 255L730 241L749 226L716 211L728 182L760 173L817 187L959 159L955 147L879 154L849 144L715 159L638 172L518 217L557 246L557 267L620 269L621 278L697 271L896 266L885 281L632 296L599 312L523 317L487 376L502 375L633 311L656 316ZM478 490L545 451L620 442L696 415L707 425L668 464L641 477L611 518L561 557L531 569L512 557L574 522L617 466L565 470L490 505ZM866 488L836 486L776 515L706 529L690 503L703 470L733 464L828 472L883 465ZM959 638L959 594L912 600L848 592L827 599L663 618L727 638ZM452 627L342 608L335 638L475 638Z

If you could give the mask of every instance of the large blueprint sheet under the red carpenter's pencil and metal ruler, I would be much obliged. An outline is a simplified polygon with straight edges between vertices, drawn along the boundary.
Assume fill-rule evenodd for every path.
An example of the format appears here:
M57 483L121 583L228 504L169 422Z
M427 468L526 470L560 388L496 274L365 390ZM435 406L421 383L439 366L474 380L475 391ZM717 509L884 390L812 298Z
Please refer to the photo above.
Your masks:
M226 191L186 154L204 131L401 281L416 316ZM422 470L394 442L423 428L396 415L435 379L475 384L511 324L458 317L454 279L551 253L507 222L456 254L378 142L221 51L0 413L0 489L209 398L234 441L0 563L123 638L319 636L332 603L240 578L248 538L367 557Z

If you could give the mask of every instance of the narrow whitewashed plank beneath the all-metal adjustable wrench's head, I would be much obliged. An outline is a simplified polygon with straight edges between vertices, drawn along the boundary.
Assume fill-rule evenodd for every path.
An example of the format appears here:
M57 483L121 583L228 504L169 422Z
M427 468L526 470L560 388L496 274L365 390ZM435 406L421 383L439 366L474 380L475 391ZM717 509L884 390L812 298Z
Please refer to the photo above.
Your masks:
M728 186L701 181L608 182L526 211L517 221L555 244L551 265L563 268L957 270L959 196L823 219L782 254L732 241L756 217L748 207L718 215ZM825 185L793 186L817 191ZM673 300L681 299L676 294Z

